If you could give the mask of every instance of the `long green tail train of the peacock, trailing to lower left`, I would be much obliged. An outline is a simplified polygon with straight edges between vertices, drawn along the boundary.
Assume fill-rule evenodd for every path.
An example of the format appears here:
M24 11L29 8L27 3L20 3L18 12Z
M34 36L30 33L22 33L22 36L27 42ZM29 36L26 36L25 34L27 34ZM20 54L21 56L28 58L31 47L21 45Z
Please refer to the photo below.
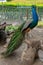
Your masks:
M8 44L8 47L6 49L6 52L4 52L4 56L7 57L10 54L12 54L13 51L19 48L19 46L22 44L22 41L25 37L25 34L22 32L22 28L24 27L25 22L19 26L19 28L15 31L15 33L12 35L11 40Z

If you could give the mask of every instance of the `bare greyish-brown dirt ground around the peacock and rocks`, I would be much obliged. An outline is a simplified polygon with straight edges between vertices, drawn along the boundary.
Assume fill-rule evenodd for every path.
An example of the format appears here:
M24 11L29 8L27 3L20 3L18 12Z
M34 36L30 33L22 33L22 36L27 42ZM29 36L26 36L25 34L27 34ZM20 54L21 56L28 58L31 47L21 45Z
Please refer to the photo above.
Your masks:
M28 34L28 40L38 39L43 41L43 29L42 28L35 28L34 30L30 31ZM7 43L9 42L9 39L7 40ZM6 43L6 44L7 44ZM22 65L21 64L21 54L26 48L26 44L23 43L19 49L17 49L14 54L8 58L4 58L1 55L1 52L5 49L3 46L0 46L0 65ZM40 61L40 59L37 59L33 65L43 65L43 62Z

